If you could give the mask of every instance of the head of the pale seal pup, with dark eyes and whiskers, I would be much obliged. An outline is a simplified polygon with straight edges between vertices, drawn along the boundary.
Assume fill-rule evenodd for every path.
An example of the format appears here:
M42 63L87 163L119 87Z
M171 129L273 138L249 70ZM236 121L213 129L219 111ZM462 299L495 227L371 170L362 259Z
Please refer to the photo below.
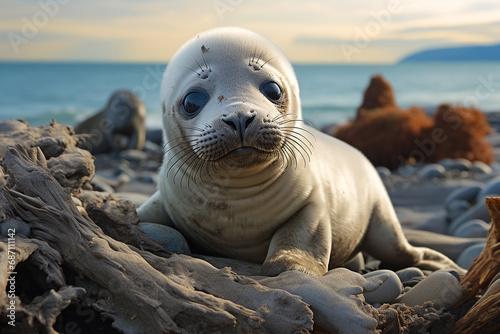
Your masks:
M311 154L293 68L254 32L218 28L188 41L167 66L161 101L174 179L283 169Z

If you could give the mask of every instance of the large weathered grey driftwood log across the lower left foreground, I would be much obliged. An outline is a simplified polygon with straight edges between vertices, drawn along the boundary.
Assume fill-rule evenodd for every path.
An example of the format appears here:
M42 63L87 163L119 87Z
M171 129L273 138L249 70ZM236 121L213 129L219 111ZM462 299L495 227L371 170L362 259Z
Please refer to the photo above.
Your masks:
M9 211L30 224L33 238L45 241L67 266L92 282L89 289L104 290L100 295L106 298L94 301L91 306L112 319L113 327L127 333L183 330L291 333L312 329L312 313L296 296L282 290L271 291L251 279L208 264L201 266L204 270L200 271L199 263L193 262L201 260L184 256L162 258L107 236L80 213L69 191L50 175L39 148L8 150L4 167L14 186L3 187L2 201L8 203ZM25 260L36 248L26 247L16 257L17 261ZM54 275L54 283L64 284L60 270L47 274L48 280ZM68 293L66 288L58 294L69 295L65 303L69 304L80 290ZM265 304L259 304L262 298L249 298L261 293L266 293ZM235 298L239 304L231 301ZM44 311L39 309L36 313ZM52 331L54 312L48 317L43 314L33 317L40 322L37 326Z

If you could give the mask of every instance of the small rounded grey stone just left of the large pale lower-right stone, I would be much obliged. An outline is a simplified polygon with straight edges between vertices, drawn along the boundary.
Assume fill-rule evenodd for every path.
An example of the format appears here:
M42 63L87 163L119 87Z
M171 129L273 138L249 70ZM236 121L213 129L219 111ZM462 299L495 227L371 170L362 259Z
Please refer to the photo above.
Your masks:
M392 303L403 292L403 284L392 270L376 270L364 274L363 277L366 279L378 277L383 282L376 290L364 293L365 300L369 304Z

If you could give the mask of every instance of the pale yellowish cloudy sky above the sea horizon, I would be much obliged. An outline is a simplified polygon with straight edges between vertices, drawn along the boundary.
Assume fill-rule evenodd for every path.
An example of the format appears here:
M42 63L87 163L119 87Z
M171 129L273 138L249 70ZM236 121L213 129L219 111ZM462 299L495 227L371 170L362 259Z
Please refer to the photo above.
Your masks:
M500 1L0 0L0 61L165 63L199 32L251 29L294 63L391 64L500 43Z

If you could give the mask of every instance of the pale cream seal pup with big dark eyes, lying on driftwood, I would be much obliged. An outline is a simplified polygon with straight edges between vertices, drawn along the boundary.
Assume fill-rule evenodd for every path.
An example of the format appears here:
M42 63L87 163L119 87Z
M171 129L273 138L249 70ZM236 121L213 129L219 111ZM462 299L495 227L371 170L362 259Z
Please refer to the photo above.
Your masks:
M359 251L394 267L461 270L408 243L358 150L304 125L292 66L260 35L219 28L188 41L161 101L165 156L141 221L270 276L322 275Z

